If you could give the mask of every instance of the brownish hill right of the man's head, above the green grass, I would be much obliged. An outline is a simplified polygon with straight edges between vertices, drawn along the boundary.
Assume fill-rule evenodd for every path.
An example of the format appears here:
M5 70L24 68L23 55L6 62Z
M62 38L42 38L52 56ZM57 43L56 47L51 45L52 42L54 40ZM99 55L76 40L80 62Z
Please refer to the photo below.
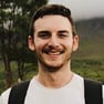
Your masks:
M75 22L80 48L74 58L104 59L104 18Z

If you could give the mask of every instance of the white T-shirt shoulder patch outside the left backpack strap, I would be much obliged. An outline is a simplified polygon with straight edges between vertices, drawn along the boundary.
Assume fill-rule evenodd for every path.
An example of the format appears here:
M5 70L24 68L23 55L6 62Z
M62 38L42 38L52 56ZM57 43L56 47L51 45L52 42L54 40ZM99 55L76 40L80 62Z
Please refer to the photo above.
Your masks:
M8 104L8 98L9 98L9 94L10 94L11 87L6 90L1 96L0 96L0 104Z

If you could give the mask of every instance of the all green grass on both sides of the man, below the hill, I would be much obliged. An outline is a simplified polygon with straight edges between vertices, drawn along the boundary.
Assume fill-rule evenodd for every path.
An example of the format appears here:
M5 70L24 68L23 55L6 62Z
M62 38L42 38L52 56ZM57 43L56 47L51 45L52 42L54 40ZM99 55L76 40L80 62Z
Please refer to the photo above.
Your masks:
M15 62L11 63L13 81L18 83L18 73ZM72 71L89 79L97 80L104 83L104 60L103 59L73 59ZM38 73L35 64L27 63L24 65L24 80L30 80ZM0 93L6 90L3 63L0 62Z

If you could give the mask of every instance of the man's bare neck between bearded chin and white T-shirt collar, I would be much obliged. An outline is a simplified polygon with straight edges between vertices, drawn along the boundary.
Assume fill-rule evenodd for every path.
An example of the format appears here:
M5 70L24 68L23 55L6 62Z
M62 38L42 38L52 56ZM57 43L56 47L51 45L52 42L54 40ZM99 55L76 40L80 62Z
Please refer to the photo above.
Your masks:
M70 67L69 63L56 72L46 72L39 69L39 74L35 79L45 87L62 87L72 80L73 73Z

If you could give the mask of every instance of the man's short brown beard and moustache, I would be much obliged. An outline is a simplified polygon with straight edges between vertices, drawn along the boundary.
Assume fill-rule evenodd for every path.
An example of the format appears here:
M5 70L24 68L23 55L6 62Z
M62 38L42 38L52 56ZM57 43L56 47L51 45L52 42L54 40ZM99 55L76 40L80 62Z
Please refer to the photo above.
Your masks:
M44 49L42 52L43 53L45 53L45 54L49 54L49 52L51 52L51 51L53 50L53 49ZM64 50L62 50L62 49L55 49L58 52L61 52L60 54L64 54ZM46 71L46 72L50 72L50 73L53 73L53 72L58 72L60 69L62 69L66 63L69 63L69 61L71 60L71 55L72 55L72 51L67 54L67 59L66 60L64 60L64 62L63 63L61 63L61 64L59 64L59 65L50 65L50 64L48 64L48 63L45 63L43 60L42 60L42 56L37 52L37 58L38 58L38 63L39 63L39 65L42 67L42 70L44 70L44 71Z

